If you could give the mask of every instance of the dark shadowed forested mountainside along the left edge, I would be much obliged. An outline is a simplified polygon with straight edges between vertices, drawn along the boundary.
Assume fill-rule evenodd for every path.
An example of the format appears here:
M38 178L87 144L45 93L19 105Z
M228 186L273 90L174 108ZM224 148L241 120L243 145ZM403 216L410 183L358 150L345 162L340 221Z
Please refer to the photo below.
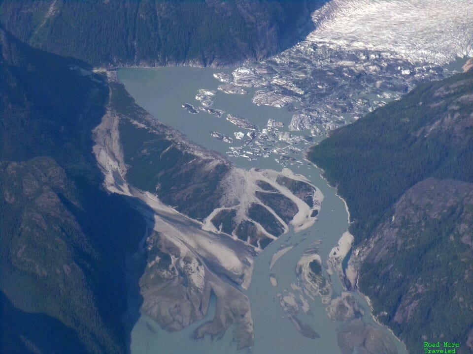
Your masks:
M108 87L0 29L1 353L124 353L125 261L144 222L101 187Z

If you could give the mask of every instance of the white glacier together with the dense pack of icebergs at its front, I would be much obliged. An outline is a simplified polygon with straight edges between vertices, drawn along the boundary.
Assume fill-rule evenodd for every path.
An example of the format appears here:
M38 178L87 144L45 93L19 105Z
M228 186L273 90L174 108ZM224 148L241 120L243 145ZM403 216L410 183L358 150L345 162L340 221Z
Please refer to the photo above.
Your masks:
M473 56L473 0L330 0L312 20L303 41L233 72L237 85L261 88L253 103L286 107L288 128L312 135L452 75L446 64Z

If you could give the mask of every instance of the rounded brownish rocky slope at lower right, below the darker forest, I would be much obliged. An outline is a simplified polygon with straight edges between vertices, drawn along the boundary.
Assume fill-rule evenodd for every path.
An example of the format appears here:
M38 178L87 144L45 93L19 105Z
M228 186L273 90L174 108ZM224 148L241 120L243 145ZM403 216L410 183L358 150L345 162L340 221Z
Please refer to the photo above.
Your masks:
M427 178L393 210L355 251L362 262L358 286L412 353L422 336L460 343L457 353L471 353L473 183Z

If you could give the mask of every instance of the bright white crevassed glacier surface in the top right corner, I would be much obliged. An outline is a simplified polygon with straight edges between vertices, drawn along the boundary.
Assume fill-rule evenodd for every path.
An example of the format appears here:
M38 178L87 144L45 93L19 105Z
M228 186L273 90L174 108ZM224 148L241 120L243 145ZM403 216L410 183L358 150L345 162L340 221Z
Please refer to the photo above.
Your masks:
M332 0L312 19L312 43L440 65L473 56L473 0Z

